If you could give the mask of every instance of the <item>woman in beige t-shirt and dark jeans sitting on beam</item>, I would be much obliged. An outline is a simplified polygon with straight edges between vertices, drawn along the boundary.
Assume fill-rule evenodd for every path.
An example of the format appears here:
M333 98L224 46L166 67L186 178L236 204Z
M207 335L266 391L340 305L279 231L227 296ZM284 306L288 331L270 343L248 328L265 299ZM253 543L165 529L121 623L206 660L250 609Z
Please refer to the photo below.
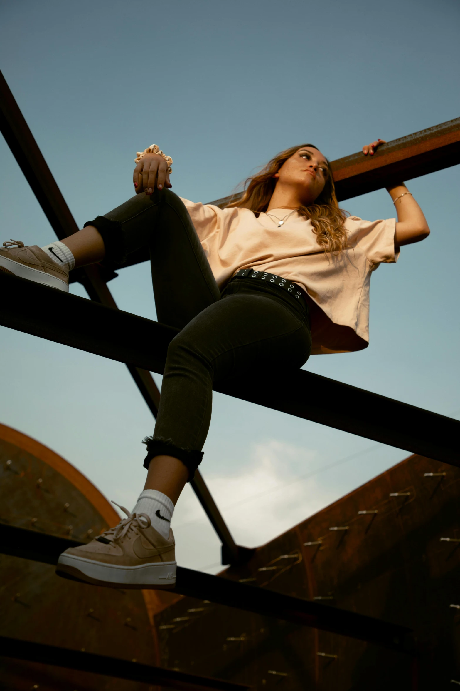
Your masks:
M150 250L158 319L179 333L154 434L144 439L146 484L132 513L121 507L127 518L117 527L66 550L57 573L95 585L173 587L170 522L203 456L214 382L299 368L310 353L366 348L370 274L430 230L403 182L387 188L397 221L348 216L312 144L279 153L225 209L172 193L172 160L158 146L136 162L136 196L62 242L3 243L0 270L68 290L74 267L119 268Z

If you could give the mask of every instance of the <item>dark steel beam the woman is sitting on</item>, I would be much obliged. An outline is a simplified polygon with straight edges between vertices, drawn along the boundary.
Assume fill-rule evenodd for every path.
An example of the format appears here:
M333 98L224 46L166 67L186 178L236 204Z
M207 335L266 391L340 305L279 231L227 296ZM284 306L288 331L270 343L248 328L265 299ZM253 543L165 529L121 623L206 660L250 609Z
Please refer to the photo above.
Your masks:
M0 324L102 357L163 373L177 330L141 316L0 273ZM66 319L60 319L66 314ZM460 466L460 422L306 370L253 372L215 390L412 453ZM305 392L308 391L308 396ZM334 401L331 406L330 401Z

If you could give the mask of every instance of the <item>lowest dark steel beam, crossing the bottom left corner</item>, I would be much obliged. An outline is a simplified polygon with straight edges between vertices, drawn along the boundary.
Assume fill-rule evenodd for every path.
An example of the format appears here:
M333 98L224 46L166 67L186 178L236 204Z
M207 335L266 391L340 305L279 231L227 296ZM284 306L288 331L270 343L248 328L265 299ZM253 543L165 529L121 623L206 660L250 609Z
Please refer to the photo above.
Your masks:
M244 691L250 689L246 684L235 684L223 679L212 679L197 674L186 674L176 670L167 670L139 662L121 660L107 655L97 655L81 650L45 645L33 641L21 641L19 638L0 636L0 655L17 660L39 662L43 665L55 665L68 670L103 674L115 679L129 679L146 684L159 685L161 688L177 691Z

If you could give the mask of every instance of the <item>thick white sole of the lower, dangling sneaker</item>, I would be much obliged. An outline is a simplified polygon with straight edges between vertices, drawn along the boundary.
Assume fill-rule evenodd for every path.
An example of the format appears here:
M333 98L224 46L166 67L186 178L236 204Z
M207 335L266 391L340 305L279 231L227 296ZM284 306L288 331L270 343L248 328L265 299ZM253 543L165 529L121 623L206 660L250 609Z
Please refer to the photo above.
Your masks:
M173 588L176 562L150 562L139 566L104 564L63 553L56 567L58 576L112 588Z

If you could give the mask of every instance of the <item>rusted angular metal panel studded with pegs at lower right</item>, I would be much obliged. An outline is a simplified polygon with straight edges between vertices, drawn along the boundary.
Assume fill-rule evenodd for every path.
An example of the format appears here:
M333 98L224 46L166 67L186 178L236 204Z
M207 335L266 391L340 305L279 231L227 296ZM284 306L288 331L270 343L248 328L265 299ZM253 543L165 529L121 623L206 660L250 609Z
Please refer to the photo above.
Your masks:
M418 658L184 598L155 617L163 665L286 691L460 681L459 500L459 469L411 456L221 574L410 627Z

